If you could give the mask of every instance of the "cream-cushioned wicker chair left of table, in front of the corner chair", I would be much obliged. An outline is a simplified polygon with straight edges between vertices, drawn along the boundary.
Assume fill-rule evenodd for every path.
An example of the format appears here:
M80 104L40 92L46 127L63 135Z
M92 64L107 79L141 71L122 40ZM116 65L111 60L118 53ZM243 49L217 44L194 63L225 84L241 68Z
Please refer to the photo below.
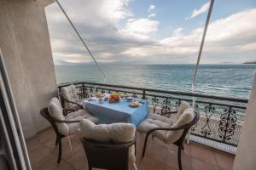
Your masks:
M49 111L51 113L49 113ZM54 113L53 113L54 112ZM67 113L67 119L62 113ZM49 121L51 126L55 130L56 140L55 145L59 144L58 161L61 162L61 139L68 136L69 134L76 133L79 129L79 122L83 119L88 119L91 122L99 122L99 120L91 116L90 113L84 110L76 111L72 109L62 109L61 103L57 98L51 99L49 108L41 109L41 116ZM53 115L54 114L54 115ZM52 116L51 116L52 115Z

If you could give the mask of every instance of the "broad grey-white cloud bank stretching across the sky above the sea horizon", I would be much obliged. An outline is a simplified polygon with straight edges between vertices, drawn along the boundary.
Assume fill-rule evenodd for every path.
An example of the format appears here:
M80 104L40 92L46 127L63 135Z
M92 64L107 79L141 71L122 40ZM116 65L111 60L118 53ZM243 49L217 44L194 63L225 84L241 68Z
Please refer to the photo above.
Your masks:
M113 6L107 8L110 3ZM156 39L153 36L160 22L137 18L128 8L128 0L61 0L61 4L100 63L195 63L203 26L190 32L177 27L171 35ZM55 64L92 62L55 3L46 8L46 14ZM202 63L255 59L255 16L256 8L251 8L213 20Z

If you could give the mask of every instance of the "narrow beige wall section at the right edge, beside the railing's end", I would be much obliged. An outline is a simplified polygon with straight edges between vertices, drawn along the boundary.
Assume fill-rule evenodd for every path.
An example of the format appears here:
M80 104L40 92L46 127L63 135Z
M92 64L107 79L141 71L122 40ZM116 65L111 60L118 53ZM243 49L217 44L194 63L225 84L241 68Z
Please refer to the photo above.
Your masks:
M256 169L256 74L253 90L247 105L244 126L241 129L234 170Z

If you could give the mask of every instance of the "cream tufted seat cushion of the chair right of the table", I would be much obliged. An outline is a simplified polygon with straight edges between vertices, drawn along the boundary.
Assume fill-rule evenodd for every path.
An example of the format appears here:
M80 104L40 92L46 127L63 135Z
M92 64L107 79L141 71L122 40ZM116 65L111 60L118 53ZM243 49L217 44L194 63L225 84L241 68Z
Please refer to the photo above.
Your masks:
M157 114L150 114L147 119L145 119L141 124L137 127L137 131L141 133L147 133L149 130L155 127L172 127L172 120ZM167 131L154 131L154 136L161 140L166 139Z

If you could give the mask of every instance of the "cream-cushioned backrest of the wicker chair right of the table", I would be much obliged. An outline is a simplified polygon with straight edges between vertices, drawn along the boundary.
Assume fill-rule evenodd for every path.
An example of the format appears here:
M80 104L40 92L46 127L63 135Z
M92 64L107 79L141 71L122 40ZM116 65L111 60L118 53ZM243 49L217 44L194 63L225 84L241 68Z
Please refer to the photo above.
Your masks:
M188 107L177 117L177 121L172 127L182 127L181 130L173 130L166 133L166 143L180 143L185 139L189 128L195 125L199 120L199 113L194 111L192 107Z

